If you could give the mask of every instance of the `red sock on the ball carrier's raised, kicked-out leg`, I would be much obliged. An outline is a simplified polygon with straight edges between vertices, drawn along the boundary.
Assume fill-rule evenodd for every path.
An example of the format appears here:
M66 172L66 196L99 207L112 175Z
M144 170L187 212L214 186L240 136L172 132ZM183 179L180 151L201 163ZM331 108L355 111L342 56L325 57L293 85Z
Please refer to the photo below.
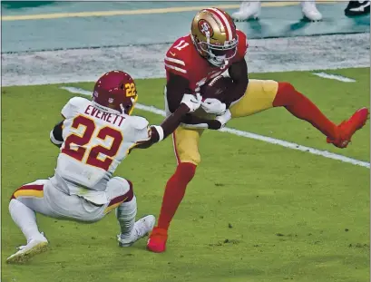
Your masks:
M337 125L329 121L317 106L298 92L291 83L278 83L278 92L273 106L284 106L298 119L310 122L327 137L337 139Z

